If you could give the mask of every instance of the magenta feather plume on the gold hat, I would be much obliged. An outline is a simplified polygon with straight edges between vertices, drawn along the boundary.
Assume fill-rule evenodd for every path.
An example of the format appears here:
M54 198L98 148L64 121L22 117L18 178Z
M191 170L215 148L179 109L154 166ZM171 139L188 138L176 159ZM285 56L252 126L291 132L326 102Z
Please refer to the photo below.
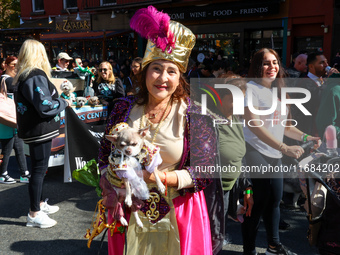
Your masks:
M152 41L163 52L167 49L171 53L175 48L176 39L169 29L169 24L170 16L167 13L159 12L152 5L139 9L130 21L130 27L133 30Z

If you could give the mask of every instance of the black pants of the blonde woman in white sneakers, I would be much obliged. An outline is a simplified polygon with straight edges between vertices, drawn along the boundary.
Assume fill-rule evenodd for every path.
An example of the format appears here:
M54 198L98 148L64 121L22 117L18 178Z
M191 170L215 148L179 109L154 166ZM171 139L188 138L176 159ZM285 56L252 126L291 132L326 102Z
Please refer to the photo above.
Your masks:
M42 201L43 182L51 155L52 140L43 143L30 143L31 178L28 185L31 211L40 211Z

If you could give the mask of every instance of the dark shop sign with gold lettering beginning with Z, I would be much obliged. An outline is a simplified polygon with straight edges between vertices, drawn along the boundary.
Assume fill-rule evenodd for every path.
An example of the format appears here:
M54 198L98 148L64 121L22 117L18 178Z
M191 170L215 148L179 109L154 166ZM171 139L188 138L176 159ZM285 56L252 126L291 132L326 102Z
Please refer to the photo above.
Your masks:
M56 32L86 32L91 30L90 14L79 14L56 17Z

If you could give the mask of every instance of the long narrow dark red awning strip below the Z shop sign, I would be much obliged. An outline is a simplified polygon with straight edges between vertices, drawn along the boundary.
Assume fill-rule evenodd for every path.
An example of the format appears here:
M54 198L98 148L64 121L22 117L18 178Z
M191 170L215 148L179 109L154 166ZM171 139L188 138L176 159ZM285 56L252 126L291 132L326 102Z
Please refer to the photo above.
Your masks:
M102 39L104 33L106 37L114 36L117 34L126 33L130 30L118 29L109 31L88 31L88 32L77 32L77 33L54 33L54 34L41 34L41 41L61 41L61 40L89 40L89 39Z

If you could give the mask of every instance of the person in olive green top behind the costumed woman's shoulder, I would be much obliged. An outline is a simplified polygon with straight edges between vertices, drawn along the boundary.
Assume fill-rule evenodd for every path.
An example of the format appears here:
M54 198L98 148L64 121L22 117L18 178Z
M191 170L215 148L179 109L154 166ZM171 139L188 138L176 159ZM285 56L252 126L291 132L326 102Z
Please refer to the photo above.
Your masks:
M220 81L220 80L219 80ZM220 84L221 82L219 82ZM246 91L246 80L237 78L224 78L222 84L228 84L239 88L244 94ZM243 197L243 208L239 212L242 219L243 214L246 216L251 215L251 210L253 207L253 191L251 183L248 180L244 182L238 182L238 178L241 173L242 159L246 153L246 145L243 135L243 126L233 123L240 123L239 116L233 114L233 95L229 89L219 89L215 88L216 92L221 98L222 105L218 104L217 107L210 100L208 103L209 109L212 111L212 115L215 119L224 119L227 123L222 125L217 125L218 130L218 148L219 148L219 158L220 164L228 169L234 169L233 171L222 172L221 173L221 184L223 189L223 199L224 199L224 229L225 229L225 243L230 243L229 233L227 233L227 222L228 222L228 211L229 209L234 210L233 215L237 218L237 200L239 197L239 192L244 191ZM232 150L230 148L233 148ZM246 185L242 185L246 183ZM216 183L216 185L219 185ZM234 186L238 186L235 187ZM231 194L235 191L235 194ZM230 196L232 195L232 196ZM232 201L230 201L232 199ZM233 201L235 200L235 201ZM233 205L233 208L229 208L229 204ZM242 220L241 220L242 222ZM219 254L223 254L221 251Z

